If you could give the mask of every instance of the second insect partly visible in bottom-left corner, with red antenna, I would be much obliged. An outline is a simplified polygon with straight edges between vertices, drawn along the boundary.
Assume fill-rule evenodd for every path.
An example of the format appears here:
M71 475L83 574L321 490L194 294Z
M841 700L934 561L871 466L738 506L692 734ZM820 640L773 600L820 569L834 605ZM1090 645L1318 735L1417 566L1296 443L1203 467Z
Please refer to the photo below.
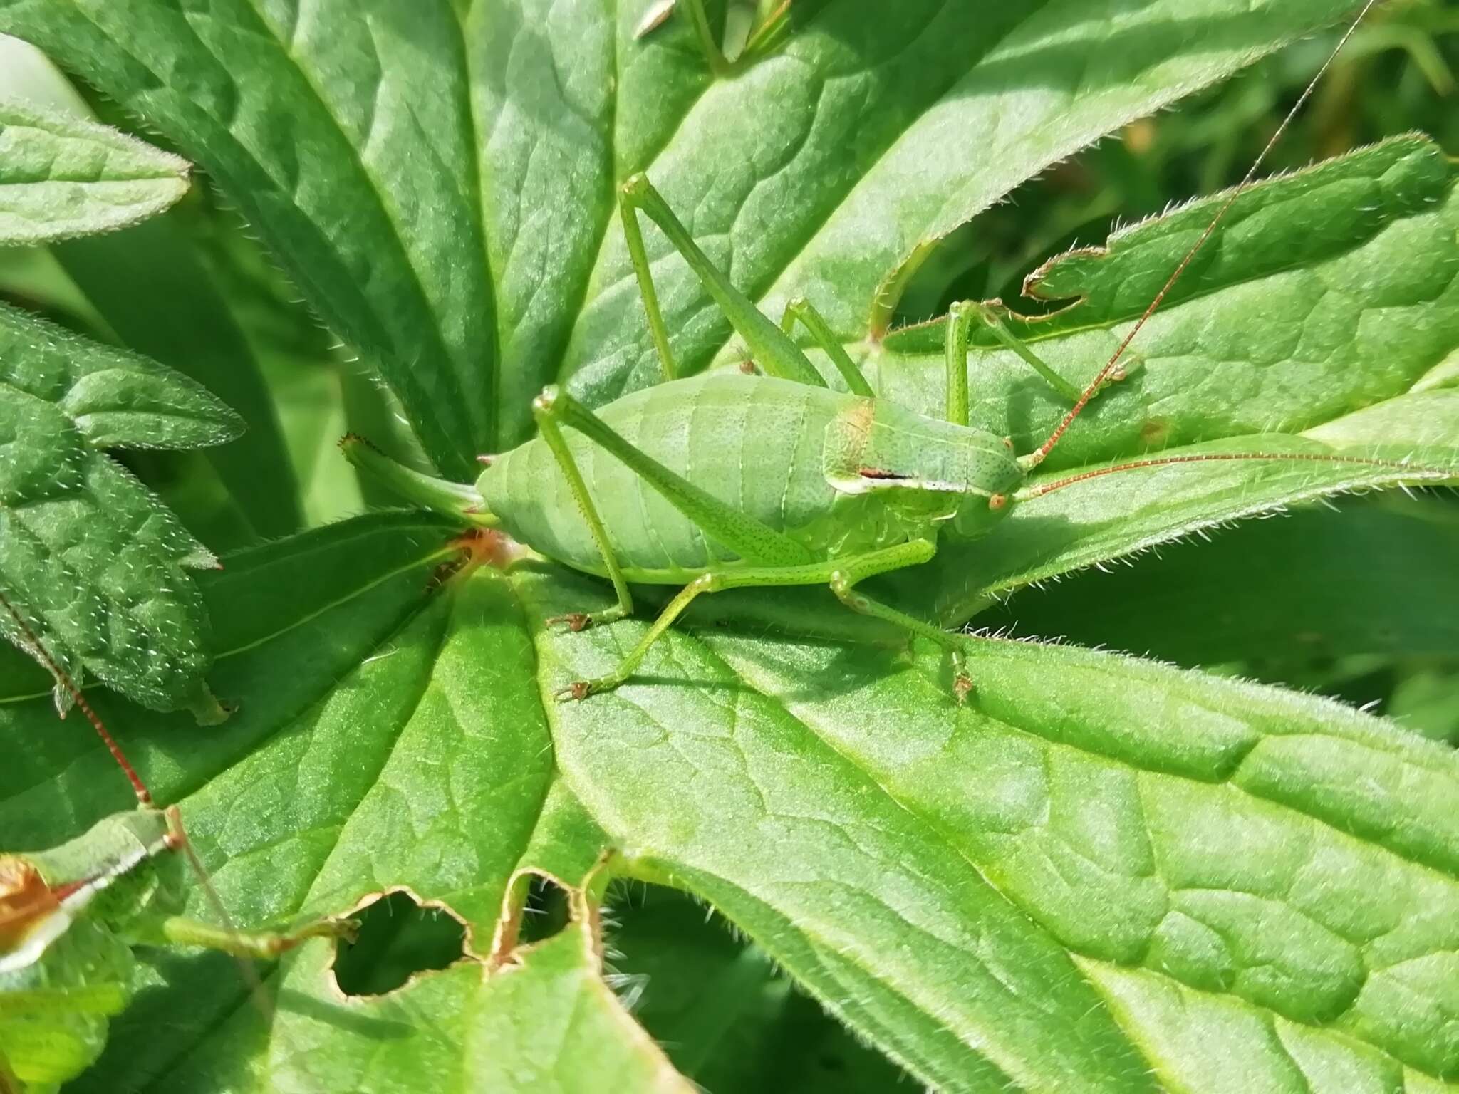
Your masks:
M178 808L158 808L136 767L61 671L19 608L0 610L92 723L137 796L137 808L36 852L0 852L0 1094L54 1091L101 1055L107 1027L134 990L134 945L203 947L268 960L308 938L347 936L352 922L317 919L287 932L239 931L193 852ZM184 865L182 859L187 859ZM203 887L217 925L182 910L184 871ZM242 964L249 990L260 989Z

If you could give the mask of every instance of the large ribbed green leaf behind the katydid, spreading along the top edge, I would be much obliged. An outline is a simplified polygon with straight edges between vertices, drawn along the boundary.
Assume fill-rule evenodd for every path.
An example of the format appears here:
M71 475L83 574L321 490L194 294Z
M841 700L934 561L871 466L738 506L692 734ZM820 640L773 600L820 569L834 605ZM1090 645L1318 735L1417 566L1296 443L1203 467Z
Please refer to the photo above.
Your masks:
M1347 10L1223 0L1191 26L1173 3L1112 3L1096 19L1085 0L919 0L889 20L858 0L807 6L781 53L711 80L687 20L633 39L642 7L500 0L407 16L385 3L363 18L343 4L315 22L245 0L206 20L7 0L0 31L203 165L379 366L438 468L464 477L474 452L525 436L541 384L582 373L579 389L604 401L657 372L611 225L613 185L630 172L692 210L738 284L772 308L782 283L805 292L859 338L874 299L891 299L878 286L928 242ZM1029 79L1046 93L1020 124L994 124ZM655 258L664 247L652 233ZM677 261L661 273L676 350L703 365L728 330Z

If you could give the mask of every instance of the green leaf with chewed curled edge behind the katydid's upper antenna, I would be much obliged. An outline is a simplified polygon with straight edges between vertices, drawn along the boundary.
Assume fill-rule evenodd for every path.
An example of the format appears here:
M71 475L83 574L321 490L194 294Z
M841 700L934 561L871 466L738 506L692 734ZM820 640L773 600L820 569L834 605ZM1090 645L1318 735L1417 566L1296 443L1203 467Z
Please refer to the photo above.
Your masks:
M1083 387L1221 201L1192 203L1115 233L1106 247L1050 260L1030 284L1065 306L1015 322L1014 331ZM1126 357L1129 379L1093 403L1045 470L1218 438L1301 433L1433 387L1425 376L1459 347L1456 230L1455 171L1423 137L1252 187L1141 330ZM1068 404L992 335L979 341L969 372L973 423L1027 452ZM941 321L864 352L878 391L940 413Z

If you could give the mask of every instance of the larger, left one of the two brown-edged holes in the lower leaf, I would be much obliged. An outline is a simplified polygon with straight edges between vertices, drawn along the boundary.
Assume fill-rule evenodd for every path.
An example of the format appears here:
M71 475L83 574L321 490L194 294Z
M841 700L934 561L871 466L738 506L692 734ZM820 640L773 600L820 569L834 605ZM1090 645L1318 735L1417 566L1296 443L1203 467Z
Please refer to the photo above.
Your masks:
M355 942L340 942L334 960L334 979L347 996L385 995L413 976L467 957L465 923L404 890L381 896L355 919L359 935Z

